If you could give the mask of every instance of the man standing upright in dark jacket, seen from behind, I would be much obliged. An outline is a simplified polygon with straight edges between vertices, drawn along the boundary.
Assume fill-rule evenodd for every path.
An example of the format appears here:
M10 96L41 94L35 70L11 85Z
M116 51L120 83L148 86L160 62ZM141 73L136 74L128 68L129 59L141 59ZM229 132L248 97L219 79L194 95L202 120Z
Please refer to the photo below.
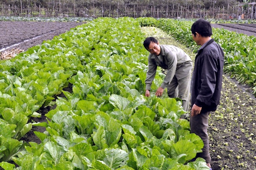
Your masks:
M204 158L210 168L207 127L210 111L215 111L220 103L224 53L211 38L212 27L209 22L203 19L195 21L191 32L193 40L201 45L201 48L195 57L191 81L190 128L191 133L200 136L204 142L203 152L198 153L197 157Z

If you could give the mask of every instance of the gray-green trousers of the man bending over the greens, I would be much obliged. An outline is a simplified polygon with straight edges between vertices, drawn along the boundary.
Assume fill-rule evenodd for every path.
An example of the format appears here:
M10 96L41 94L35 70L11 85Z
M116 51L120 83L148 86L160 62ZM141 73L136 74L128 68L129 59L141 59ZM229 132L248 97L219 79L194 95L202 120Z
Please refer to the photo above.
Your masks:
M168 96L172 98L179 97L186 112L189 111L190 78L191 74L179 80L174 76L172 82L167 86Z

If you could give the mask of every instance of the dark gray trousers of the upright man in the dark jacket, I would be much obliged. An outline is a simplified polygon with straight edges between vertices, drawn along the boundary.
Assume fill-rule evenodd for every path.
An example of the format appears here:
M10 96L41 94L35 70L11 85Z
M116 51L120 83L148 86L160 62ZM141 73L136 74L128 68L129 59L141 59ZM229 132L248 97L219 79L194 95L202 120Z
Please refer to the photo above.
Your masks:
M209 113L200 113L197 116L190 116L190 133L200 136L204 142L203 152L197 154L197 158L204 158L206 163L210 163L211 156L209 154L209 138L207 133Z

